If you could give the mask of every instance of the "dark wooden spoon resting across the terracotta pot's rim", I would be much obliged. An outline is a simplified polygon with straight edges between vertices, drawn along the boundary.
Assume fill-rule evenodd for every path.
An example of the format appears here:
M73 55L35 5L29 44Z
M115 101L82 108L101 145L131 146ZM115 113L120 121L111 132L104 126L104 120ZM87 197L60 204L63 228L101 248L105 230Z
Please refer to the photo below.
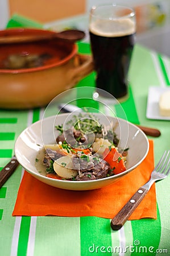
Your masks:
M81 30L65 30L59 33L52 32L52 34L45 35L9 35L6 33L5 36L0 36L0 44L28 43L51 39L61 39L65 42L74 43L84 37L85 32Z

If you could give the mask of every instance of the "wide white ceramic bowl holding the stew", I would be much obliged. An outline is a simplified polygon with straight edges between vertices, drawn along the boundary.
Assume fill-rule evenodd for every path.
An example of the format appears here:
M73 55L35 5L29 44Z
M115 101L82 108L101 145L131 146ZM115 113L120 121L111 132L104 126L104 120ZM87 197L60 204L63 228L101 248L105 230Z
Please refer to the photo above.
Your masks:
M121 177L128 174L136 168L146 158L149 149L149 143L146 135L138 127L130 122L121 118L107 117L110 122L119 123L115 128L115 133L120 138L120 147L128 147L128 156L126 168L127 170L121 174L117 174L110 177L105 177L98 180L89 181L69 181L69 180L57 180L49 177L45 177L36 170L35 158L43 144L55 143L57 134L53 134L52 130L55 125L61 125L67 119L69 114L60 114L44 118L42 121L33 123L27 129L25 129L16 139L15 143L15 156L18 159L20 165L29 172L36 179L52 185L53 187L70 189L70 190L90 190L102 188L106 185L110 185L115 181L121 179ZM100 123L103 123L101 114L95 113L99 118ZM101 118L101 119L100 119ZM104 123L103 123L104 124ZM128 134L128 137L127 137ZM42 139L43 138L43 139ZM136 177L137 178L137 177Z

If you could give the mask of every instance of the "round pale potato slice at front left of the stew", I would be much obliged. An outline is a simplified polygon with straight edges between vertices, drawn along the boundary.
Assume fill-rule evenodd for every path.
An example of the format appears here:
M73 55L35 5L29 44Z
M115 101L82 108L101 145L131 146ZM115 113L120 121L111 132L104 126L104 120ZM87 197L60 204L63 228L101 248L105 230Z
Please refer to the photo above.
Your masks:
M78 171L73 170L72 158L70 156L62 156L53 163L53 168L57 175L65 179L71 179L77 176Z

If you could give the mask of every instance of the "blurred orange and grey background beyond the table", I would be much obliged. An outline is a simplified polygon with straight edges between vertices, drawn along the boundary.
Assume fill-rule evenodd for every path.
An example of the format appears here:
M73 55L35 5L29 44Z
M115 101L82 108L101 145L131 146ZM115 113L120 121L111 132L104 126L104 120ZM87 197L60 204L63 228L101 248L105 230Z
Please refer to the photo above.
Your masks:
M169 0L0 0L0 29L17 23L19 26L19 21L26 18L55 31L72 27L88 31L90 8L102 3L133 7L137 20L136 41L170 56ZM85 40L88 41L88 33Z

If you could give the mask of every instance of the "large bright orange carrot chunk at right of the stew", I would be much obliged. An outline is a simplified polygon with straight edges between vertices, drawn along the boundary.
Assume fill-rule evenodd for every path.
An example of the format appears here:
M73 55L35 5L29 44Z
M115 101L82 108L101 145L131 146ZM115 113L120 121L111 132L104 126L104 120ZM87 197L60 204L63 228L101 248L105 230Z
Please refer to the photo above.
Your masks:
M111 171L113 174L120 174L121 172L126 171L125 162L122 158L122 155L117 151L116 148L106 148L103 153L103 159L110 164Z

